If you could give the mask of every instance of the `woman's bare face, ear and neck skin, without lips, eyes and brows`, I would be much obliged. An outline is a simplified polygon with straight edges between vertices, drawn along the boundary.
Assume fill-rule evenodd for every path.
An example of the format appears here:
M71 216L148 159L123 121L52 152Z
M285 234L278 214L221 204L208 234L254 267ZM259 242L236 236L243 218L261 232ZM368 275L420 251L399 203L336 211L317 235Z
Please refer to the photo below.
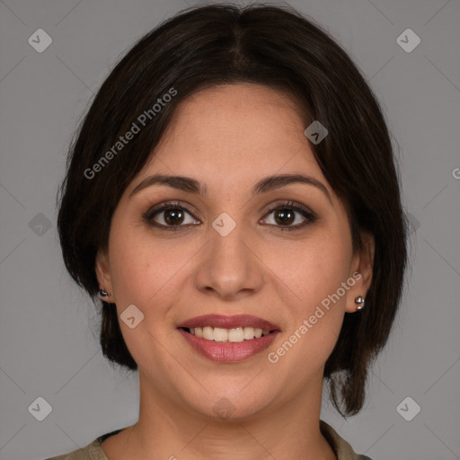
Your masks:
M181 103L155 155L125 190L96 271L118 314L131 304L144 314L134 329L119 322L139 368L140 409L135 425L102 443L110 460L336 458L319 429L323 367L344 314L356 312L355 297L366 296L374 240L362 234L363 251L352 252L345 208L314 159L305 122L288 95L262 85L200 91ZM155 184L129 198L153 173L193 177L208 194ZM314 177L331 201L303 183L251 198L256 181L282 173ZM167 200L191 211L177 232L142 218ZM283 222L268 208L284 200L310 209L317 219L291 232L279 230ZM222 212L236 223L225 237L211 225ZM167 216L160 211L155 221L166 225ZM305 221L298 211L295 216L284 226ZM268 353L355 271L361 274L355 285L270 363ZM191 349L177 330L201 314L253 314L279 325L281 333L252 358L217 363ZM227 420L213 411L221 398L234 408Z

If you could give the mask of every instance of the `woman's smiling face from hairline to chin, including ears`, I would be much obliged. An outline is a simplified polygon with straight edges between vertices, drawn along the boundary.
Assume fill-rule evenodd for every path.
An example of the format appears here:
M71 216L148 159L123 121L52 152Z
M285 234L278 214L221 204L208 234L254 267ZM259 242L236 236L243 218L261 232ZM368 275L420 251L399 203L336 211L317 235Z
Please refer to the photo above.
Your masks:
M366 296L373 245L352 252L306 127L270 88L203 90L181 103L125 190L96 269L131 318L121 332L152 397L248 417L321 392L343 316ZM190 178L201 194L157 174ZM306 179L257 188L279 175Z

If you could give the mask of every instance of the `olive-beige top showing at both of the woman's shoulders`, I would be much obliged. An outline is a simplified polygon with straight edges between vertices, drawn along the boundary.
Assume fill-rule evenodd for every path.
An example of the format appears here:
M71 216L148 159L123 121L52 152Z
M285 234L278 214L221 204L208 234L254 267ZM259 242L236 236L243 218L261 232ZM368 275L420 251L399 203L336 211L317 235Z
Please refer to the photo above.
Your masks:
M323 420L320 420L320 429L324 438L329 441L332 450L337 456L337 460L372 460L368 456L360 456L356 454L349 443L345 439L341 438L337 431L335 431L335 429ZM52 458L46 458L45 460L109 460L107 456L105 456L101 444L106 438L109 438L111 435L116 435L119 431L121 431L121 429L111 431L99 438L95 438L93 442L88 444L86 447L76 449L69 454L53 456Z

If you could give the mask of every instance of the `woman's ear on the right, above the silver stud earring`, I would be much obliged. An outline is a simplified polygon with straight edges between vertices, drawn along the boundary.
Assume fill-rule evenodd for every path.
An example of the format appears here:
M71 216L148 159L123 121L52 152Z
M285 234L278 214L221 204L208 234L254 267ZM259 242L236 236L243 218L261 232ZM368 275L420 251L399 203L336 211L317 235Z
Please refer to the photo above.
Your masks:
M346 311L354 313L357 311L355 298L363 296L366 298L367 290L372 281L372 269L374 267L374 253L376 252L376 241L373 234L361 232L362 248L357 250L351 262L349 277L355 280L355 284L349 288L347 296Z

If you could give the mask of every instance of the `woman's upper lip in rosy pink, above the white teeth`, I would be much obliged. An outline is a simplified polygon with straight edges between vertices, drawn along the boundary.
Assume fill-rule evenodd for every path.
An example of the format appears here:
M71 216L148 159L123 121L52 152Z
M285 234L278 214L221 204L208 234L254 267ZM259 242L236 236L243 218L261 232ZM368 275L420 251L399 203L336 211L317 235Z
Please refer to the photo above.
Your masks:
M225 314L203 314L201 316L195 316L189 318L177 327L220 327L223 329L234 329L236 327L254 327L260 328L262 331L276 331L279 330L279 326L270 323L270 321L252 316L252 314L234 314L232 316L226 316Z

